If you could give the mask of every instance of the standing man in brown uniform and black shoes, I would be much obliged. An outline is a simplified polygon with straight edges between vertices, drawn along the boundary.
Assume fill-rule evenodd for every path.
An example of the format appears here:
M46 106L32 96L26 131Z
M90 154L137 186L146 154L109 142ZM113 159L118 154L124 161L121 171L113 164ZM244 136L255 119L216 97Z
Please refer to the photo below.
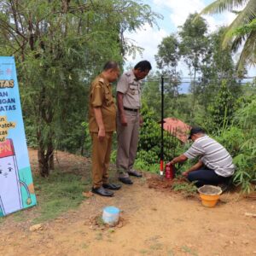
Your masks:
M92 140L91 191L102 196L113 196L108 190L118 190L118 184L108 183L113 131L116 130L116 106L113 102L111 84L119 77L119 65L108 61L102 73L90 86L89 130Z

